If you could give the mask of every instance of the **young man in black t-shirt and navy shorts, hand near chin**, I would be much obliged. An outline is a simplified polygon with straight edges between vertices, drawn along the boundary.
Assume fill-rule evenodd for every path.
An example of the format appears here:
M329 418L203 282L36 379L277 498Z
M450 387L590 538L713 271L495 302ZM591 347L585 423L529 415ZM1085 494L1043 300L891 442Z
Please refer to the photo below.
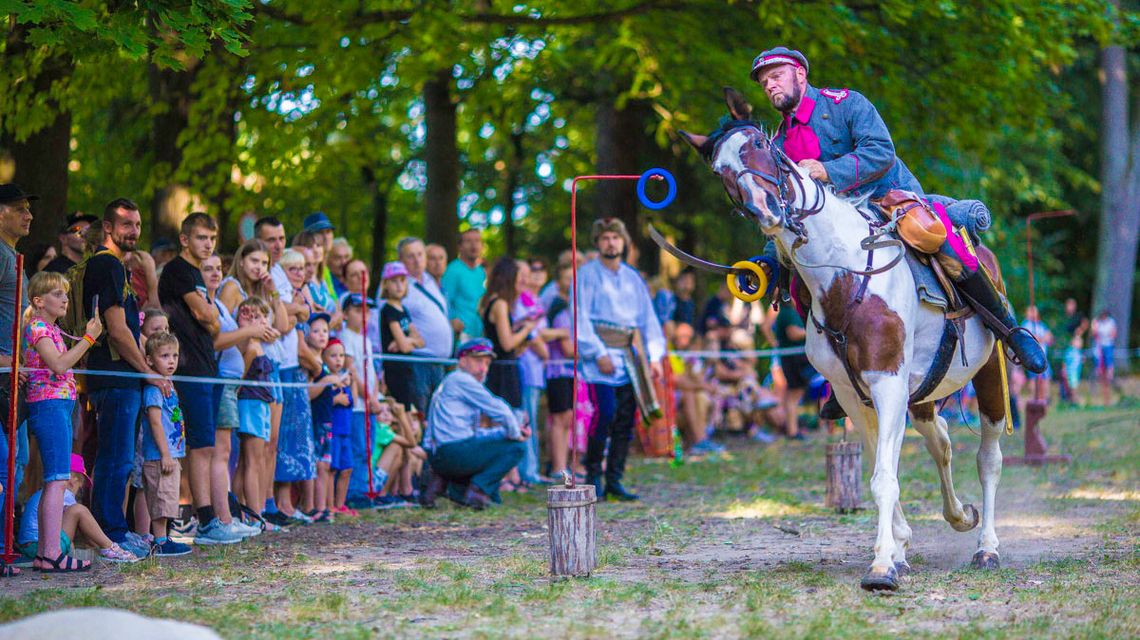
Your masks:
M218 360L213 339L218 335L218 307L206 298L199 266L213 256L218 224L210 216L190 213L178 234L181 252L162 269L158 299L170 317L170 331L178 335L180 354L176 375L217 378ZM198 544L227 544L243 536L234 529L229 513L227 461L213 464L214 430L221 404L221 384L174 383L186 429L190 495L198 517ZM228 457L228 456L227 456ZM213 467L220 467L213 472Z

